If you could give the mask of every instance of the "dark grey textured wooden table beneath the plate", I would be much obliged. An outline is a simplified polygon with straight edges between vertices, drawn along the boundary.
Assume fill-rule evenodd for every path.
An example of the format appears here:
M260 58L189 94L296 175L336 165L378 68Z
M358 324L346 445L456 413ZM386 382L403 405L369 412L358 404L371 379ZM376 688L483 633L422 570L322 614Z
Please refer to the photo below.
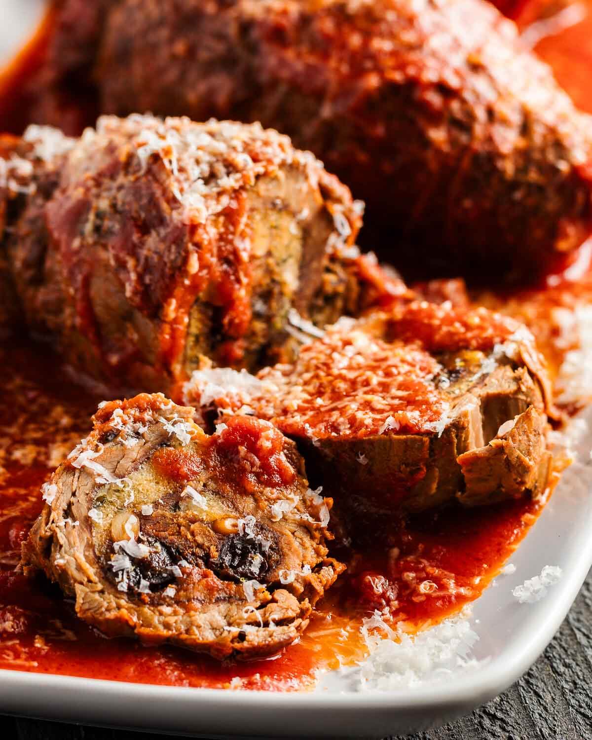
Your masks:
M36 719L0 718L2 740L139 740L145 735ZM592 571L553 642L519 682L462 719L406 738L482 739L592 739Z

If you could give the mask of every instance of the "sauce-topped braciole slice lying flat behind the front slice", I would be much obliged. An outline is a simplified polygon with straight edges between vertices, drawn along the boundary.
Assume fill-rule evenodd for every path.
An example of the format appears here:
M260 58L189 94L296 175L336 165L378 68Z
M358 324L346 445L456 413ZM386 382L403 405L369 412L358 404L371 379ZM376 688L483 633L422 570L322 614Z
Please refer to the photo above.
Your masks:
M186 399L272 420L340 511L421 511L545 490L548 378L524 326L414 301L340 320L258 377L195 372Z

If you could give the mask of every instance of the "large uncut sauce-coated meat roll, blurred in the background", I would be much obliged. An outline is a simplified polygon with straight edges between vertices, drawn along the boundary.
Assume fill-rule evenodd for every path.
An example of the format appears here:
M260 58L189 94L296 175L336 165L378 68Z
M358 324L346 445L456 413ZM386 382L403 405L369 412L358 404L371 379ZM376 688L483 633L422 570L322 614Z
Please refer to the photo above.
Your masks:
M102 111L291 135L401 268L533 277L590 231L590 118L482 0L117 0L92 33Z

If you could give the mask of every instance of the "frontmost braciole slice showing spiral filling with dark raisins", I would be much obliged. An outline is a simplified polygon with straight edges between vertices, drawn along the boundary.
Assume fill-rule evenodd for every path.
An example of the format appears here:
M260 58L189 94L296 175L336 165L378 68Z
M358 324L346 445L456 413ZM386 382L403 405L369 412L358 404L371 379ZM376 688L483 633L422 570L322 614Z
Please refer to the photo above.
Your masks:
M44 485L24 568L108 636L267 656L343 570L326 557L332 501L269 422L236 416L208 436L193 414L161 394L99 408Z

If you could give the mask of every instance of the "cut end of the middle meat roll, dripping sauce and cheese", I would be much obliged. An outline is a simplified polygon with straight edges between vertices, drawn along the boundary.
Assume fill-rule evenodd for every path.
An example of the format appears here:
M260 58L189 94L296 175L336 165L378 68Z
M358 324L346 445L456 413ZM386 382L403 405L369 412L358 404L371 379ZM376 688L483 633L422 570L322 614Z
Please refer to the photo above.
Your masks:
M353 246L349 190L258 124L105 117L78 140L30 127L20 150L3 249L27 323L116 386L167 390L202 357L257 368L300 317L405 291Z

